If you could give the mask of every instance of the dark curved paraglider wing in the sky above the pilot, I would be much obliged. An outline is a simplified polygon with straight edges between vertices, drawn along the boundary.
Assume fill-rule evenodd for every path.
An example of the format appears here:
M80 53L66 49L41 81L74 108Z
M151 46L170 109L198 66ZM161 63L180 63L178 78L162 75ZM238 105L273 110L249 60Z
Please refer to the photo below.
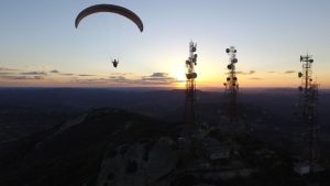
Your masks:
M96 6L91 6L85 10L82 10L76 18L76 22L75 22L76 28L78 28L80 21L84 18L86 18L90 14L94 14L94 13L99 13L99 12L111 12L111 13L117 13L117 14L123 15L123 17L130 19L131 21L133 21L138 25L140 32L143 31L143 23L142 23L141 19L134 12L132 12L131 10L125 9L123 7L119 7L119 6L114 6L114 4L96 4Z

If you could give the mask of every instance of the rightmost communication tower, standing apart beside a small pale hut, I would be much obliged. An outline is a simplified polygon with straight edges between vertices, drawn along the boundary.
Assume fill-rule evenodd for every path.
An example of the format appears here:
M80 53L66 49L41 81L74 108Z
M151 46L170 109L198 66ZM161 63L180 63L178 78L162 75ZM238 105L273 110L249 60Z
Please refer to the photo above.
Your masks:
M317 172L318 160L318 130L319 125L316 117L316 101L318 99L319 85L314 83L311 75L311 66L314 63L312 56L300 55L300 63L302 63L302 72L298 73L298 77L301 79L299 86L300 100L299 100L299 117L301 121L300 140L301 140L301 153L300 158L304 163L307 163L309 173Z

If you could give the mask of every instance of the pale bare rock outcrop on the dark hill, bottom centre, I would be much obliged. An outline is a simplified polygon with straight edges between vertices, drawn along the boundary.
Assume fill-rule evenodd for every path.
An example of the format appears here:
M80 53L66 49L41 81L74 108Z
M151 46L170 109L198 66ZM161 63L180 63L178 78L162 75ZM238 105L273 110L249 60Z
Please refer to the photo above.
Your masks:
M177 164L169 138L111 146L102 162L97 186L167 185Z

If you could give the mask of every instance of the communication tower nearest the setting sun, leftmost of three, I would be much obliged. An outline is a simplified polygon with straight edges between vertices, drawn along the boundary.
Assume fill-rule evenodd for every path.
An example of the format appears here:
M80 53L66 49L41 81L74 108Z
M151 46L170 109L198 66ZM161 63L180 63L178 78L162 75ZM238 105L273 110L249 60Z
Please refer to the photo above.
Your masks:
M197 74L195 66L197 65L197 44L190 41L189 43L189 57L186 61L186 103L185 103L185 123L193 127L196 124L197 110L196 110L196 81Z

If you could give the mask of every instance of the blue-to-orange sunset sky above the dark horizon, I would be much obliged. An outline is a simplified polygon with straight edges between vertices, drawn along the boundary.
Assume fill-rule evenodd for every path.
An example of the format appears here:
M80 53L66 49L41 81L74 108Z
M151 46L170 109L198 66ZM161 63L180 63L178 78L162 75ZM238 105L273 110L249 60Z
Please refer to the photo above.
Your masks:
M76 29L97 3L132 10L143 33L111 13ZM241 87L298 87L308 52L312 77L330 88L329 10L329 0L2 0L0 87L184 87L193 40L198 88L223 88L231 45Z

